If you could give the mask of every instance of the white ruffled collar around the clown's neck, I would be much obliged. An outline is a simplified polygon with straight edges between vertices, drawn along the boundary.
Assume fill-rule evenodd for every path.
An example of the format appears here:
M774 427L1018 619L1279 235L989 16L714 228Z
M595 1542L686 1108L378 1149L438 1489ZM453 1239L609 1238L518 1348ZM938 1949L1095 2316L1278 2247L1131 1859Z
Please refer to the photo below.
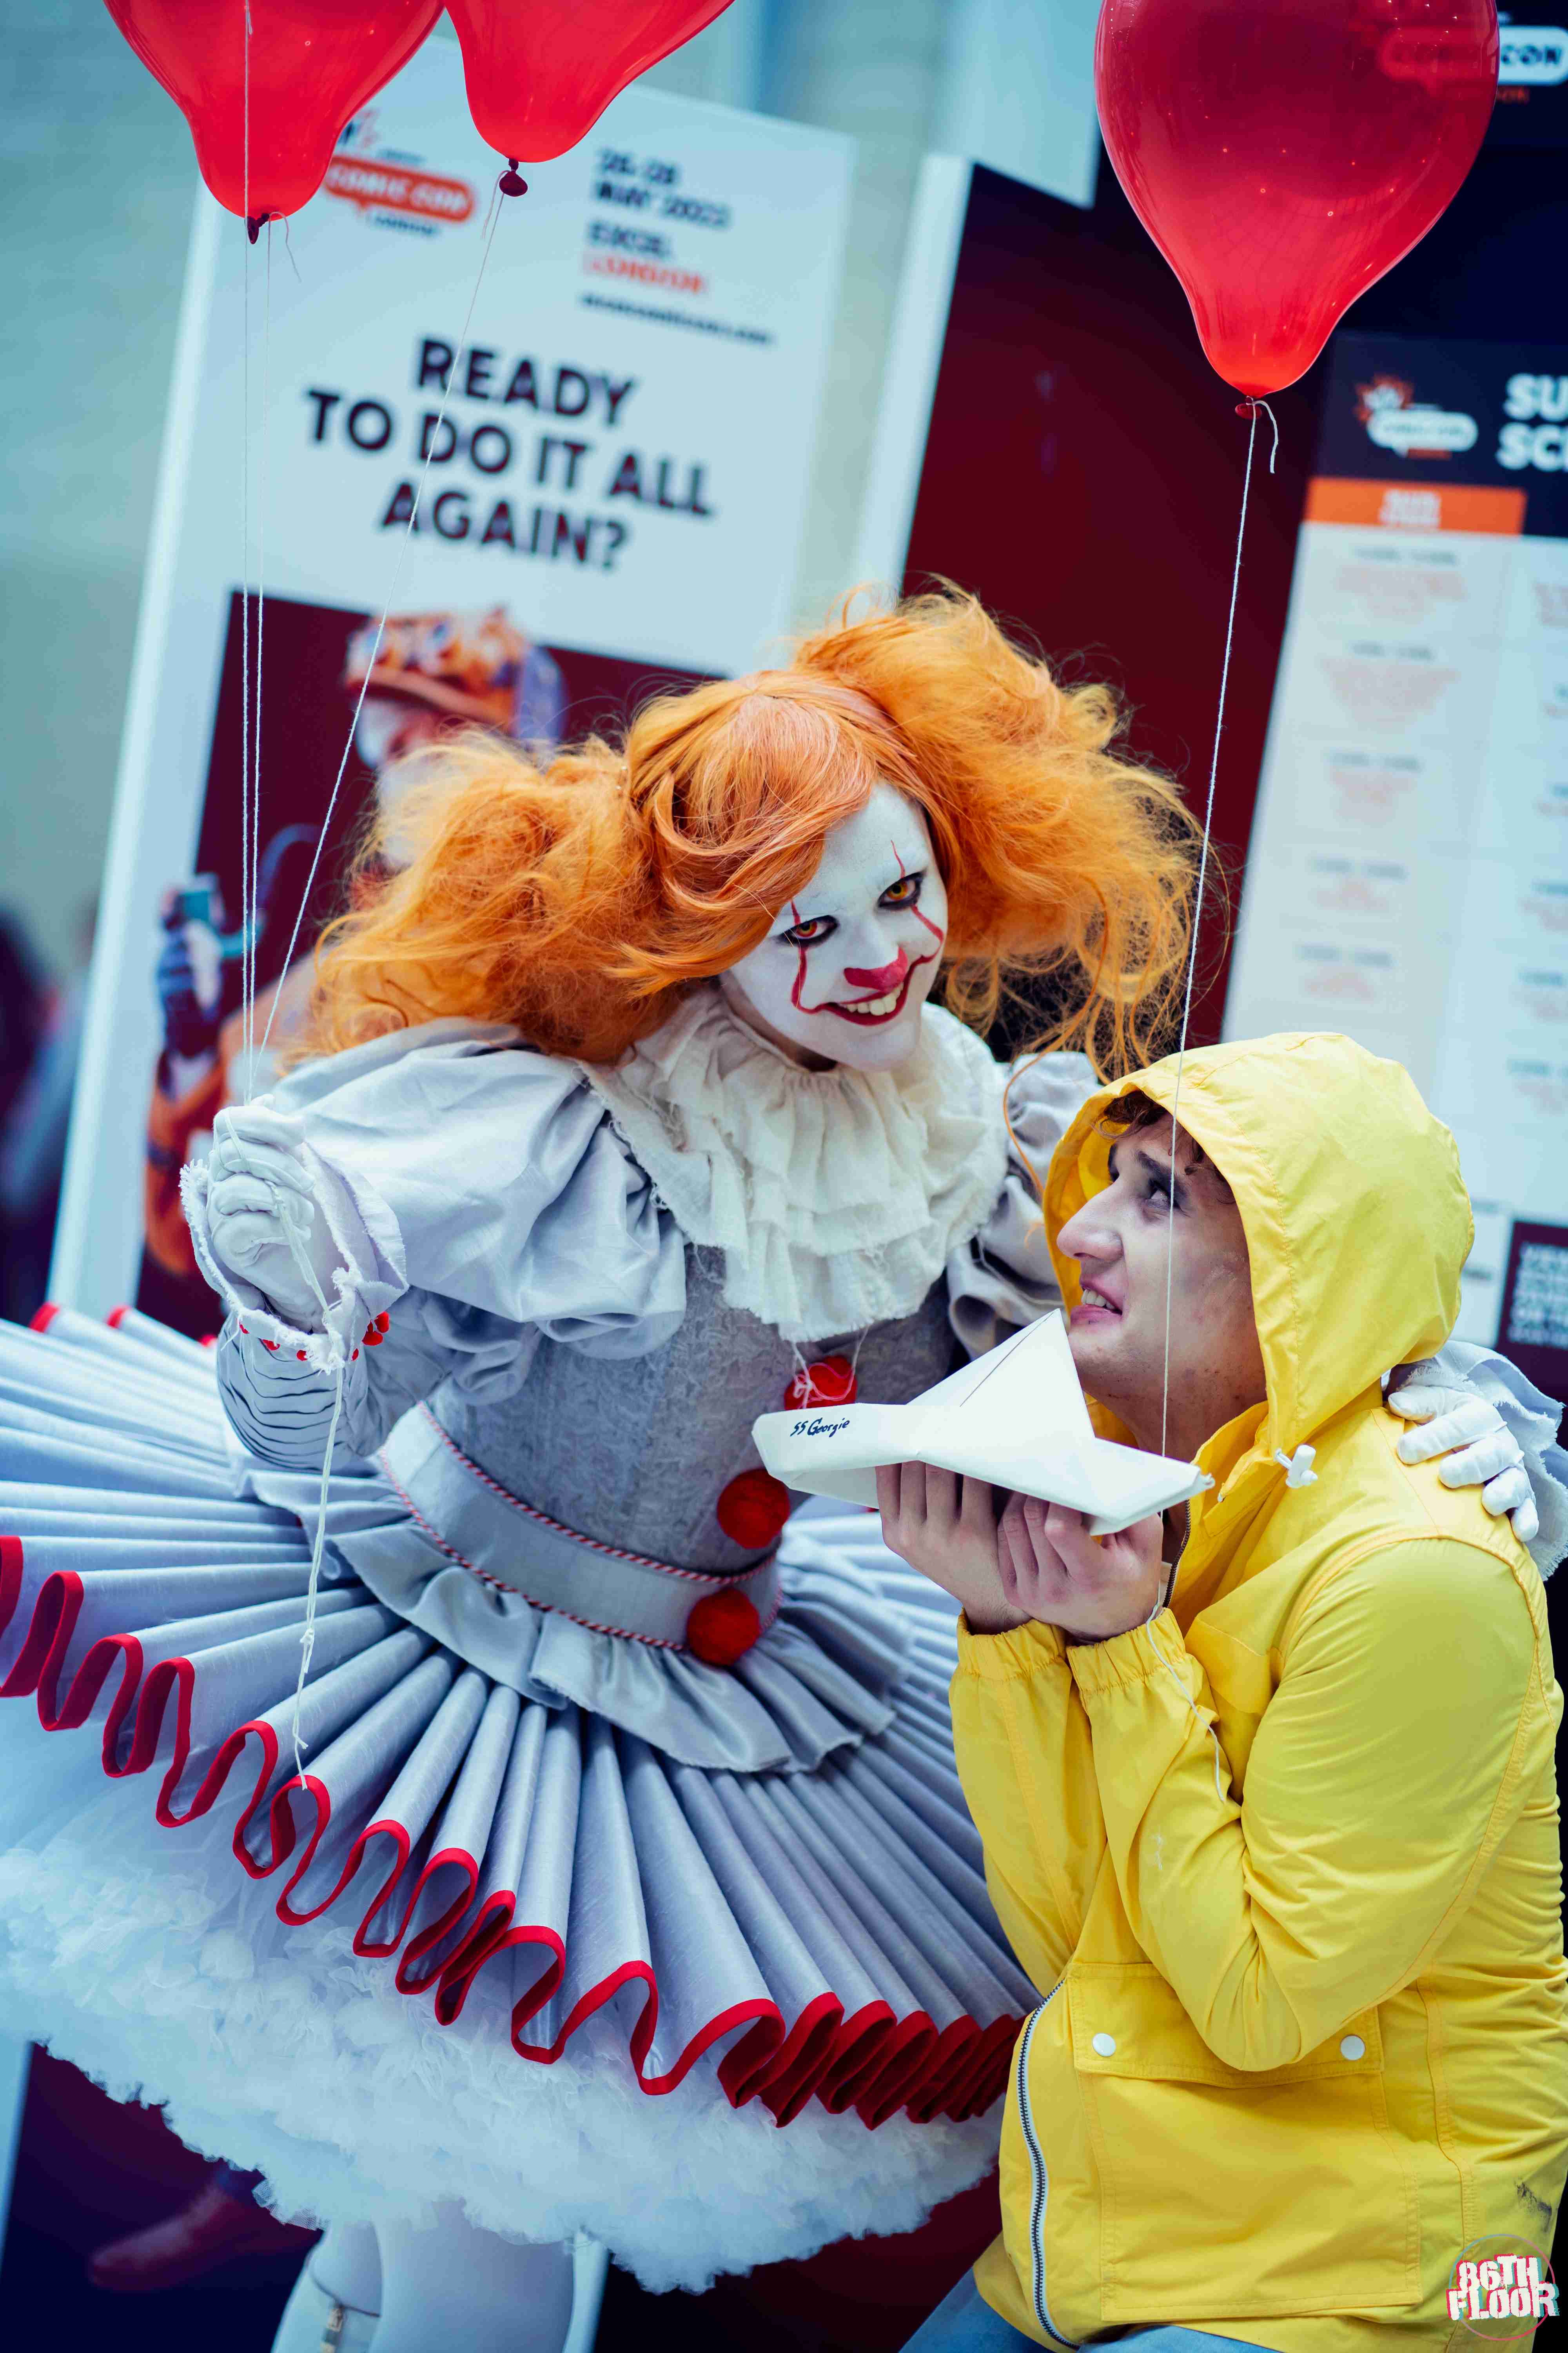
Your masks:
M802 1071L703 986L616 1068L578 1068L686 1240L724 1254L726 1304L783 1339L912 1315L1006 1176L1006 1073L936 1005L900 1071Z

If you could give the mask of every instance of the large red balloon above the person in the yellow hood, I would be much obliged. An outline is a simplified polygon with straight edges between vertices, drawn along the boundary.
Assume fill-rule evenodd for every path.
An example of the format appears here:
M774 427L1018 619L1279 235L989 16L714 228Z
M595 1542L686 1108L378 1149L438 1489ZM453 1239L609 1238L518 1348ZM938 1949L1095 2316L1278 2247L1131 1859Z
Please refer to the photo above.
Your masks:
M1105 0L1100 127L1239 393L1427 235L1497 94L1493 0Z

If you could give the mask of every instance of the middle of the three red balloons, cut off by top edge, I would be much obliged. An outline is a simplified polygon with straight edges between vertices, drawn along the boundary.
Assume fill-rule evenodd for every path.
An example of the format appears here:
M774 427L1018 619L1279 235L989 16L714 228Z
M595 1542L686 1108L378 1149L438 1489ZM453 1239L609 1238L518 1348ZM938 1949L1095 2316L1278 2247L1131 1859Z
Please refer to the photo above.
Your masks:
M468 113L498 155L548 162L729 0L449 0Z

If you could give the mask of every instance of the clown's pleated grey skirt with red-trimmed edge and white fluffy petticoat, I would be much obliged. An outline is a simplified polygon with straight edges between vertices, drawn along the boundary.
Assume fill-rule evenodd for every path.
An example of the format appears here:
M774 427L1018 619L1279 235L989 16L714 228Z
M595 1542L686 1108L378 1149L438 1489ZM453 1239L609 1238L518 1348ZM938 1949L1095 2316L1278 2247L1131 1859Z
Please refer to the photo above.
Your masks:
M329 1546L301 1779L310 1529L237 1489L209 1351L0 1325L19 2031L289 2212L458 2195L649 2285L907 2228L985 2169L1034 1993L952 1765L952 1617L863 1513L780 1551L910 1638L886 1732L816 1772L705 1772L520 1697Z

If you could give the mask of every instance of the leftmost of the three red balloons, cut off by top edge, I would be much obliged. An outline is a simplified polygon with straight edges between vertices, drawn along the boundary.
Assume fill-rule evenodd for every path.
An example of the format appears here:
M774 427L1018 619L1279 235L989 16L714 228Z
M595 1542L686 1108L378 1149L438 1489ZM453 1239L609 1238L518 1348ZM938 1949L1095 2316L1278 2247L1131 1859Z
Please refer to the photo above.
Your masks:
M339 132L404 66L442 0L106 0L195 139L219 205L266 221L322 184Z

